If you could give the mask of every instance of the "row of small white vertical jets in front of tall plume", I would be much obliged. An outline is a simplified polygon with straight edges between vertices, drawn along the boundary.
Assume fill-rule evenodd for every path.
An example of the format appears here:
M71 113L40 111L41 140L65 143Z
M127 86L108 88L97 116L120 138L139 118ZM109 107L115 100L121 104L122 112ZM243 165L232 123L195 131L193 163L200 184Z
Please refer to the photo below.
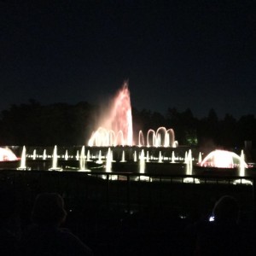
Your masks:
M219 152L218 152L219 151ZM215 151L214 154L226 154L227 151L222 151L222 150L217 150ZM211 153L213 154L213 153ZM209 154L207 157L209 158L211 156ZM234 153L231 153L234 154ZM199 154L198 157L198 165L201 165L205 160L207 160L207 157L202 161L202 154ZM37 159L52 159L52 166L49 168L49 171L63 171L63 169L58 166L58 159L63 159L63 160L70 160L73 159L73 156L70 156L66 150L66 153L63 155L58 155L57 154L57 147L55 146L53 150L52 155L46 154L46 150L44 149L44 154L43 155L38 155L36 150L33 151L33 154L26 154L26 147L24 146L22 149L22 154L20 158L20 167L18 167L18 170L30 170L30 167L26 166L26 158L30 158L32 160L37 160ZM225 157L227 159L227 157ZM85 154L85 147L83 146L81 148L81 151L77 151L77 154L75 156L75 160L79 161L79 172L90 172L90 169L87 169L86 167L86 162L89 161L95 161L97 164L102 164L105 168L105 172L112 172L112 163L114 162L113 160L113 151L111 148L108 148L108 153L105 156L102 156L102 151L99 150L97 155L90 155L90 150L87 150L87 154ZM172 151L172 157L164 157L162 156L161 152L159 153L158 157L154 157L153 155L149 156L148 151L144 152L144 149L141 150L141 152L137 156L137 151L134 151L133 154L133 160L134 162L138 162L139 166L139 172L140 173L145 173L145 168L146 168L146 163L148 162L170 162L170 163L175 163L175 162L183 162L186 166L186 174L187 175L192 175L193 171L193 161L195 159L192 157L192 152L191 149L189 149L188 152L185 153L184 158L181 157L176 157L174 154L174 151ZM122 153L122 159L120 162L125 162L125 151ZM202 165L201 165L202 166ZM244 177L245 174L245 168L247 167L247 164L244 161L244 154L243 151L241 151L241 157L240 157L240 176ZM188 177L184 180L184 182L190 182L191 178ZM241 182L245 183L245 180L241 180ZM198 179L193 179L193 183L199 183Z

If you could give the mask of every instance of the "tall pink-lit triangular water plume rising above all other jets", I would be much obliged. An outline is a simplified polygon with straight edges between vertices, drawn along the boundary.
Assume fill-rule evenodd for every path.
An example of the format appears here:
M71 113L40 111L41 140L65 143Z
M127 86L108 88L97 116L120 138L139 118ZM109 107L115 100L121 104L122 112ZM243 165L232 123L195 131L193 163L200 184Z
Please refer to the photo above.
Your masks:
M89 146L132 146L131 99L127 82L114 97L111 108L104 113L98 127L90 137Z

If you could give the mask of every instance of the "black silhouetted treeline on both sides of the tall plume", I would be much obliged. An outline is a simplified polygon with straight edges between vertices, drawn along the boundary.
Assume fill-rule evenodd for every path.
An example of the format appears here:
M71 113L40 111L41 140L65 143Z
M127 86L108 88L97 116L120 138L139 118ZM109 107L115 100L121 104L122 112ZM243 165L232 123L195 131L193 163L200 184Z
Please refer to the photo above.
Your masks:
M55 103L43 106L34 100L12 105L0 117L2 145L82 145L96 129L100 108L87 102L76 105ZM245 141L256 143L254 115L235 119L226 114L218 119L211 109L207 117L197 119L188 108L178 112L169 108L165 115L143 109L132 109L134 134L142 130L156 130L160 126L172 128L179 144L207 148L243 148ZM135 139L137 140L136 136Z

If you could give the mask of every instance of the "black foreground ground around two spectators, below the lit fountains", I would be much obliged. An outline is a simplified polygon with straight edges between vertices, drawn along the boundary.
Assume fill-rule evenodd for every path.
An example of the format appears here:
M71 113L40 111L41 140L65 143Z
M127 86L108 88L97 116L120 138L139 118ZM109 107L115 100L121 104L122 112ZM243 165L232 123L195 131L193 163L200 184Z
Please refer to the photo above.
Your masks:
M247 248L254 244L253 186L233 185L236 177L226 173L198 176L199 184L195 179L184 183L182 175L148 179L131 173L2 170L0 178L1 198L17 236L31 224L35 197L57 192L68 213L64 227L95 255L193 255L195 241L188 227L207 219L222 195L233 195L241 204Z

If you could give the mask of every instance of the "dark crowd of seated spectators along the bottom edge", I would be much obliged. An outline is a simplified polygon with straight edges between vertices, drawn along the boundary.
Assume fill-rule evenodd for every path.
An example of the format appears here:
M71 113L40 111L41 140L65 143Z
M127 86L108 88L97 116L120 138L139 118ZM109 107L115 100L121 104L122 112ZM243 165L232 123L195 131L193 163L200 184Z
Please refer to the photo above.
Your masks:
M102 209L95 227L84 224L91 215L81 212L73 216L73 221L82 229L87 227L91 234L90 229L98 230L96 241L89 241L89 246L85 236L79 238L65 227L68 214L61 195L38 193L32 201L30 219L24 221L21 214L24 209L19 208L24 205L17 204L13 189L2 187L0 255L236 256L256 253L254 219L242 216L241 204L233 195L220 196L210 214L198 212L193 218L184 218L178 209L174 210L175 206L172 214L151 211L147 215L126 212L119 216Z

